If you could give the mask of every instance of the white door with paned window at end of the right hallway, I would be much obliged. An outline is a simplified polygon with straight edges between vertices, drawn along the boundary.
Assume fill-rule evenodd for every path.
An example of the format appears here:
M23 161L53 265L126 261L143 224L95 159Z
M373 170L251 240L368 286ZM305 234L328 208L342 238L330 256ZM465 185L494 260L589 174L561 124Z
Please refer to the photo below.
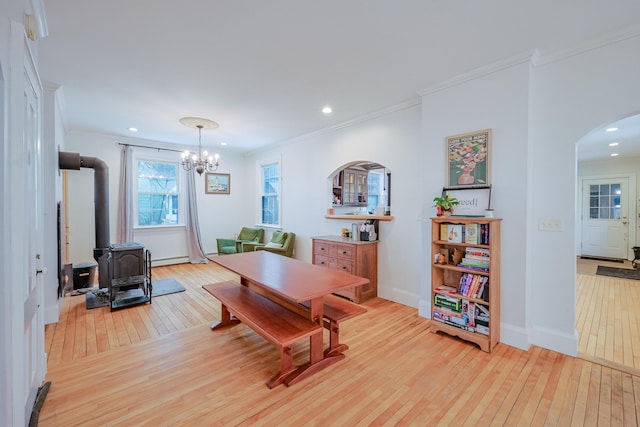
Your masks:
M582 255L628 259L628 178L582 182Z

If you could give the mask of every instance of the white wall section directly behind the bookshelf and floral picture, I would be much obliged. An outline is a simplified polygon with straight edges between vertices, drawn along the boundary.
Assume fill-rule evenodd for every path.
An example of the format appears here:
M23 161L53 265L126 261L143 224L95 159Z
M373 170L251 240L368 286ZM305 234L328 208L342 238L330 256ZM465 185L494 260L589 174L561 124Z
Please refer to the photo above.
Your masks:
M502 342L527 348L526 337L526 217L528 62L516 61L461 83L452 82L422 97L422 144L425 183L421 197L425 218L422 241L422 299L420 314L430 317L432 200L445 185L445 138L486 128L492 129L491 205L501 224L501 335Z

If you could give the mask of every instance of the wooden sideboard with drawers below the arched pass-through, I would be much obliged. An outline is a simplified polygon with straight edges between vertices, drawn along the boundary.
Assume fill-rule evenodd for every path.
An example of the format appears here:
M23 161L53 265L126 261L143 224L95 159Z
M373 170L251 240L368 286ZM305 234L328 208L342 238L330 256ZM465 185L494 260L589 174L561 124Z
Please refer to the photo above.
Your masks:
M378 242L365 242L339 236L312 237L313 264L369 279L369 284L357 286L338 295L361 303L378 296Z

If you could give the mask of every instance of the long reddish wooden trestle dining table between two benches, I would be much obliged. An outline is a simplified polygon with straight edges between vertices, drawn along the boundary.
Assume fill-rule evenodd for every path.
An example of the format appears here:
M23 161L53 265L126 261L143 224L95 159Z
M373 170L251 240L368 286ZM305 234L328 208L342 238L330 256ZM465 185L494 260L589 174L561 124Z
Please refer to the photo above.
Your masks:
M323 300L326 295L369 282L363 277L268 251L224 255L211 260L238 274L242 285L320 325L323 324ZM309 361L289 375L286 384L300 381L342 358L344 354L341 352L324 352L322 334L311 336Z

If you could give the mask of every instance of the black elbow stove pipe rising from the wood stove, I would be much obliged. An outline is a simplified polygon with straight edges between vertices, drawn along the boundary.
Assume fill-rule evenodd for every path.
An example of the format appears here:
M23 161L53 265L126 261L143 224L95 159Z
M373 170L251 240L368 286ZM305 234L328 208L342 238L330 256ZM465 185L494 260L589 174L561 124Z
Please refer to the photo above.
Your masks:
M109 168L97 157L85 157L78 153L60 151L58 153L60 169L80 170L91 168L95 171L93 181L93 198L95 209L96 247L93 258L100 263L100 258L109 252Z

